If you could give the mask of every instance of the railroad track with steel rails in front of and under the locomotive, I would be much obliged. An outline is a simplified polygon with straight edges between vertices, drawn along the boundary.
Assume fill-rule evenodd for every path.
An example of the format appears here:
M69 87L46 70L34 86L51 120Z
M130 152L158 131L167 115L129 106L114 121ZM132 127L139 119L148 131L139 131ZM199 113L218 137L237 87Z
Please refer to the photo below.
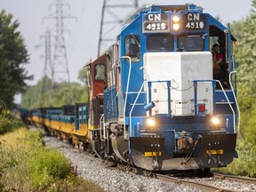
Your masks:
M167 182L183 184L188 187L197 188L206 192L217 192L217 191L218 192L234 192L234 191L256 192L256 179L248 178L248 177L239 177L239 176L233 176L233 175L221 174L221 173L215 173L215 172L204 172L204 173L183 172L183 173L172 173L170 175L166 173L161 174L161 173L143 171L138 168L131 168L124 164L123 165L116 164L116 166L109 166L109 164L106 164L106 161L104 164L108 169L115 170L116 168L118 168L119 170L124 172L133 172L135 174L143 175L149 178L152 177L158 180L164 180ZM247 186L247 188L244 187L243 185Z

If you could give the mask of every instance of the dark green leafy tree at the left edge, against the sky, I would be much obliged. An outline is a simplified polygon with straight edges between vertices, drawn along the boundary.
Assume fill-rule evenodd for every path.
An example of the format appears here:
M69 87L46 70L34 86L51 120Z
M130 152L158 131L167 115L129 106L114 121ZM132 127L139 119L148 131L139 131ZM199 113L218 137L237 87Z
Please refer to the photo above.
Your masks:
M28 63L28 50L18 31L19 22L12 22L12 14L0 12L0 100L7 108L13 107L14 95L24 92L25 80L32 79L24 64Z

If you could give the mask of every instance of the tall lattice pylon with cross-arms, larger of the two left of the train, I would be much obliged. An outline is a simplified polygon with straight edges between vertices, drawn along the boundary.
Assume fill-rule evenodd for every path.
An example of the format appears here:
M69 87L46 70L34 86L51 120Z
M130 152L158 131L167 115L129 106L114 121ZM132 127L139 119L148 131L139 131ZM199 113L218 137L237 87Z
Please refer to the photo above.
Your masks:
M68 69L68 57L65 44L64 32L66 31L64 20L74 19L68 12L65 12L65 7L69 8L69 4L63 0L55 0L51 5L55 7L55 12L50 13L46 19L55 20L55 33L54 33L54 52L52 60L52 89L50 96L50 105L52 104L52 95L54 94L54 85L58 81L68 83L69 90L69 104L73 103L73 92L71 90L70 76Z

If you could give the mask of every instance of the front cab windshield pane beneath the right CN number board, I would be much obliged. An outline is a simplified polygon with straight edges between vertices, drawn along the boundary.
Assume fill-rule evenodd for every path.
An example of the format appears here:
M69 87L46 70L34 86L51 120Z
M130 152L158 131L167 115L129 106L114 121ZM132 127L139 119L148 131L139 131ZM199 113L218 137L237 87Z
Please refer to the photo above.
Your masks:
M204 39L202 36L180 36L178 39L180 51L202 51L204 50Z

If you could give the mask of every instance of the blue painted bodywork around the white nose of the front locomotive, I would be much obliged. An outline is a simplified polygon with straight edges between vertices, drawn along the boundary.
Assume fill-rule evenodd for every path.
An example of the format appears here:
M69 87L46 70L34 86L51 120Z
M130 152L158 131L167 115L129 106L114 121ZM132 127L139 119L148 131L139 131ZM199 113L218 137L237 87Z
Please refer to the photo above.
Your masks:
M221 129L218 129L218 130L220 132L222 132L223 134L235 133L234 126L236 124L235 122L236 91L232 92L229 85L223 90L221 89L217 90L216 84L219 84L219 83L216 82L214 79L203 79L203 80L192 79L191 81L194 81L194 87L196 87L196 85L199 83L202 83L202 82L205 83L207 81L209 81L210 84L212 84L212 87L211 87L212 108L213 108L212 113L208 113L206 115L205 111L200 111L199 101L197 103L197 97L200 96L199 95L200 93L195 92L194 93L195 97L193 99L194 102L196 103L194 114L189 116L182 116L182 115L173 116L171 113L172 94L171 94L171 91L169 91L168 92L169 95L168 97L166 97L168 98L168 102L166 103L166 105L169 106L168 112L166 112L165 114L155 114L154 119L157 122L156 123L157 126L155 130L148 131L148 128L147 128L148 125L146 125L146 120L148 119L148 117L152 117L152 116L147 115L147 112L144 109L144 107L149 102L154 101L150 99L150 93L148 93L149 92L148 90L150 90L151 84L155 83L154 81L150 82L149 80L146 82L145 74L144 74L144 67L145 67L144 63L146 62L145 58L147 57L147 56L145 57L145 55L146 53L149 52L147 47L148 36L172 36L173 38L172 52L182 52L182 53L193 52L193 51L189 51L189 50L187 51L186 49L179 50L180 36L201 36L204 45L203 45L203 49L198 50L197 52L211 52L211 47L210 47L211 43L210 43L209 36L214 36L212 30L218 28L218 30L216 29L216 31L219 31L219 32L221 31L221 33L223 33L221 34L223 36L220 38L226 38L225 42L223 42L223 39L220 39L222 43L226 44L227 47L231 46L230 45L231 36L228 37L228 33L230 33L229 28L226 28L225 26L223 26L218 20L214 19L212 15L208 13L203 13L202 9L197 7L196 5L194 4L188 5L188 11L174 12L173 10L172 11L170 10L172 10L172 6L168 8L168 6L154 5L151 8L148 8L148 10L147 9L142 10L139 12L139 14L134 15L132 17L133 19L132 22L124 26L120 34L120 44L119 44L120 58L124 57L125 53L127 52L126 50L127 48L125 45L127 36L134 36L134 38L136 36L138 40L136 44L138 44L140 47L140 57L138 58L138 60L132 60L131 66L130 66L129 60L124 58L121 60L121 64L120 64L120 68L121 68L121 85L120 86L121 87L120 87L120 92L118 93L119 94L118 105L121 105L121 103L124 103L124 105L126 104L126 106L124 106L125 112L123 113L122 111L118 111L119 114L117 115L116 108L115 110L114 109L108 110L109 108L105 106L104 113L105 115L106 114L108 115L107 122L108 122L108 119L111 119L111 117L115 116L117 119L117 116L123 117L123 114L124 114L124 124L128 125L128 136L130 138L150 137L150 135L151 136L155 135L156 137L164 138L164 146L165 148L169 148L168 150L169 156L173 157L174 156L173 151L177 151L177 141L180 139L181 137L180 135L182 135L181 132L186 132L186 135L188 137L191 137L194 141L197 140L198 134L204 134L204 133L211 134L212 132L214 132L214 129L212 128L212 123L211 123L212 116L218 116L220 120L219 127L221 127ZM148 15L150 15L150 18ZM158 25L157 22L160 22L159 26L161 25L162 20L157 18L157 17L160 17L159 15L163 15L165 19L167 18L167 20L169 21L168 23L169 32L166 32L166 31L157 32L157 30L152 31L153 30L152 28L156 28L156 26L155 27L149 26L152 20L153 20L152 21L153 24L154 24L154 21L156 21L155 23L156 25ZM172 29L173 28L172 25L174 23L171 20L174 15L179 16L180 18L180 24L181 24L180 30L174 31ZM194 20L193 17L199 17L199 15L203 19L201 21L198 19L199 20L198 21L199 24L198 24L196 21L197 19L195 18ZM149 19L152 19L148 21L149 31L147 31L145 27L145 25L147 24L146 23L147 17ZM154 19L154 17L156 17L156 20ZM185 20L186 17L188 20ZM165 19L163 22L165 22ZM191 19L192 21L190 22L189 19ZM195 29L196 27L195 28L193 26L191 27L191 25L202 25L201 26L202 29L200 29L200 27ZM163 52L164 52L164 49L163 49ZM230 63L231 60L233 60L231 49L227 49L225 51L225 54L226 55L224 56L224 59ZM228 63L228 66L230 66L229 63ZM161 68L161 63L159 63L158 70L159 68ZM164 68L162 69L164 72ZM228 70L228 73L230 73L232 70L235 70L235 66L233 66L233 68L229 67L227 70ZM169 81L169 85L168 85L168 81ZM172 78L165 79L163 81L163 84L166 83L166 85L164 86L171 87L170 85L171 81L172 81ZM225 81L227 81L227 79ZM159 83L159 82L156 81L156 83ZM228 84L227 82L225 84ZM148 86L147 89L143 87L146 84ZM236 86L236 81L235 81L235 86ZM141 87L143 88L141 89ZM226 95L224 92L226 93ZM108 91L104 93L104 97L106 93L108 94ZM106 94L106 97L107 97L107 94ZM122 95L121 99L120 99L120 95ZM111 97L115 98L114 95L111 95ZM149 99L147 97L149 97ZM109 98L109 100L111 99ZM108 106L109 106L109 103L111 103L109 100L108 100ZM135 101L136 103L134 104ZM117 100L112 99L112 104L117 105L116 103L117 103ZM201 105L201 108L205 108L204 103ZM233 108L233 111L231 108ZM111 116L110 114L114 114L114 116ZM147 135L146 132L150 132L150 134L148 133ZM151 134L151 133L154 133L154 134ZM129 143L131 144L131 140ZM132 148L130 146L129 151L131 152L131 150Z

